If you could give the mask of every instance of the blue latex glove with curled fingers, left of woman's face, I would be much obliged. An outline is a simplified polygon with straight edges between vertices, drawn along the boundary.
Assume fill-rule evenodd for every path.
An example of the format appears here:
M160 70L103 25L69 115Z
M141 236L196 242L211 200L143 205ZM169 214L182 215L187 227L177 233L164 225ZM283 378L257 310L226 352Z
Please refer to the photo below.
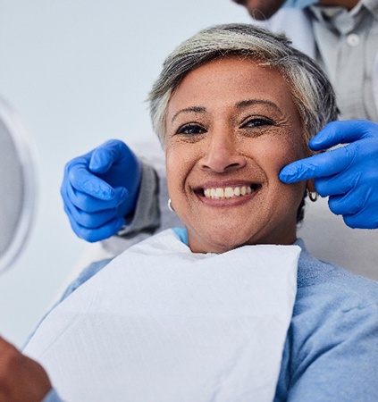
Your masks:
M61 195L73 231L90 242L113 236L135 210L140 180L137 156L119 140L72 159Z

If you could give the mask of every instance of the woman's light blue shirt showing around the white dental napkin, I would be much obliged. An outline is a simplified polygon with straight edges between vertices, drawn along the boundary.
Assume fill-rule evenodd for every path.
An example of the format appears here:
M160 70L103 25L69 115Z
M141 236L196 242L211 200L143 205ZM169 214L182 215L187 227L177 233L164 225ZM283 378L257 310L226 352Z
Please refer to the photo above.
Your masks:
M185 229L174 229L188 244ZM310 255L302 240L298 292L274 401L378 401L378 283ZM62 301L110 260L91 264ZM44 402L60 402L52 389ZM233 402L233 401L232 401Z

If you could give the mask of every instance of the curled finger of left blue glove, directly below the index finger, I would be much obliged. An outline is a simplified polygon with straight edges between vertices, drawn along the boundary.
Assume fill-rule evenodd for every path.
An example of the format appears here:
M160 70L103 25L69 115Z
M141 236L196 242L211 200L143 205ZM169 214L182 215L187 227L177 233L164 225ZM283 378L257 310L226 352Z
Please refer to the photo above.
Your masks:
M64 204L73 205L75 208L79 208L85 213L96 213L99 211L116 208L128 197L128 191L126 188L114 188L113 192L114 197L109 200L102 200L96 197L88 196L88 194L77 191L71 187L63 188L61 194Z

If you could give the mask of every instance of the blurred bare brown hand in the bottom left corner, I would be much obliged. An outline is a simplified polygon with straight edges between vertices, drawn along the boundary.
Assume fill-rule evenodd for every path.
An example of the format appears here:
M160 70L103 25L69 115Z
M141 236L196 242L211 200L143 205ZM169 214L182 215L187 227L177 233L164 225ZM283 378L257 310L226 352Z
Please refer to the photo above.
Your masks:
M0 401L39 402L51 389L44 368L0 338Z

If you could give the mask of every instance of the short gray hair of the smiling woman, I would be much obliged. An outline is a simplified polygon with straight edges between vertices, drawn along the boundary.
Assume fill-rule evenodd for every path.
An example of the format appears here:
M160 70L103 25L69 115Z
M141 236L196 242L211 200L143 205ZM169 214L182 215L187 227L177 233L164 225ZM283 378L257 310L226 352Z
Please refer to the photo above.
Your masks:
M174 90L201 64L231 55L281 71L298 107L306 143L325 124L336 120L338 110L330 81L312 59L290 46L288 38L250 24L215 25L176 47L165 59L163 70L151 89L148 97L151 120L163 144L165 113Z

